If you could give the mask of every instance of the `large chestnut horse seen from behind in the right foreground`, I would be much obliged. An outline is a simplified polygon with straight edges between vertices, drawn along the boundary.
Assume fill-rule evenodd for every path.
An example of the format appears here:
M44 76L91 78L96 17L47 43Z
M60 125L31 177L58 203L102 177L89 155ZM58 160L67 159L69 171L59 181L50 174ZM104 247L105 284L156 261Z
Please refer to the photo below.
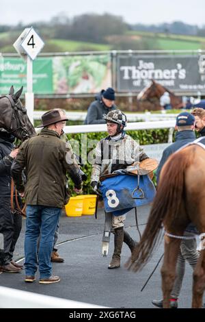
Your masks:
M192 222L199 230L201 239L205 233L205 149L200 138L193 144L176 151L165 162L161 171L156 197L152 204L148 224L139 245L126 264L128 269L139 271L151 256L152 250L165 228L165 256L161 268L163 306L169 308L169 298L174 285L176 260L180 238ZM205 145L204 145L205 147ZM167 234L174 236L167 236ZM202 307L205 288L205 244L193 272L192 307Z

